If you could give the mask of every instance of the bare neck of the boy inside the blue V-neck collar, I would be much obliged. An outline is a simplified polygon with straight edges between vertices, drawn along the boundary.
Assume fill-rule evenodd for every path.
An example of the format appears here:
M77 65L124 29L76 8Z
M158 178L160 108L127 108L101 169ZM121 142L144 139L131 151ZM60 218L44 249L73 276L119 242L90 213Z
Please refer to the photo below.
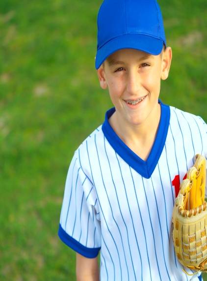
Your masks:
M160 115L160 104L157 104L142 124L131 125L126 120L120 119L117 112L111 116L109 124L135 154L146 160L155 141Z

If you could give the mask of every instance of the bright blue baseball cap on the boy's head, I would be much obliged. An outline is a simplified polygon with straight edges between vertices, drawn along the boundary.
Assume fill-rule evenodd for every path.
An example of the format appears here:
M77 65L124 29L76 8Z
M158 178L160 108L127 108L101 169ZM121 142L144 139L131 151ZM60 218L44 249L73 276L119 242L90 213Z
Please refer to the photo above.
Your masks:
M95 67L125 48L152 55L166 46L161 10L156 0L104 0L98 13Z

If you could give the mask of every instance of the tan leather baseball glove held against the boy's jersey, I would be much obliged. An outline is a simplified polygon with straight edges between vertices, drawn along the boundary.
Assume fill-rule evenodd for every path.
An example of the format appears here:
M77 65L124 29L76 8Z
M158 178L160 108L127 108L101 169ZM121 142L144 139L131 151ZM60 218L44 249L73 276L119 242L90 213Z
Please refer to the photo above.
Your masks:
M206 158L195 156L195 164L182 181L173 209L173 244L180 263L207 272Z

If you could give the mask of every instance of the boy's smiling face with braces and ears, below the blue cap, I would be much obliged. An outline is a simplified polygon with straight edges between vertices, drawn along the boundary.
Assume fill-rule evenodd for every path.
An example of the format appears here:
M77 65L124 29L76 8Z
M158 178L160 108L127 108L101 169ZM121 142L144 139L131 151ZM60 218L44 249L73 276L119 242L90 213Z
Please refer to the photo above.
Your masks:
M157 112L160 79L168 77L171 58L170 47L157 56L122 49L107 58L97 72L119 119L138 125Z

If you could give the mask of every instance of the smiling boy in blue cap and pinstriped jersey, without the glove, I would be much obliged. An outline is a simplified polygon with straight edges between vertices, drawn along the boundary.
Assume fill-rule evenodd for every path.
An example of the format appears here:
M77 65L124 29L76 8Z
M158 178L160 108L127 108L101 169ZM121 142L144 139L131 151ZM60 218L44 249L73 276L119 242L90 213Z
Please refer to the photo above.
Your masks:
M114 108L75 152L59 225L78 281L202 280L182 271L171 223L180 181L207 155L207 126L158 100L171 59L155 0L103 1L96 69Z

